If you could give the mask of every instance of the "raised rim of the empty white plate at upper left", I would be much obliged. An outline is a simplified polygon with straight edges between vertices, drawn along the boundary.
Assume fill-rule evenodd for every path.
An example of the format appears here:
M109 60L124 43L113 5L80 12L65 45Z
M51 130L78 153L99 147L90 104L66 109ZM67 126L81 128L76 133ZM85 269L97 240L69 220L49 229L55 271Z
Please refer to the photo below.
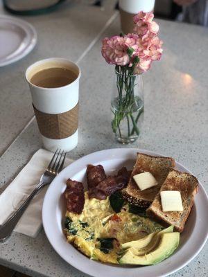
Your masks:
M1 19L6 19L10 21L10 23L14 24L15 26L18 26L19 28L24 30L24 32L26 33L26 36L30 38L30 42L27 44L24 50L21 51L21 53L19 53L18 55L15 55L14 57L8 60L4 60L3 62L1 62L1 59L0 59L0 67L3 67L8 64L12 64L13 62L17 62L18 60L21 60L23 57L28 55L28 53L30 53L33 50L33 48L37 44L37 32L34 26L24 19L12 17L10 15L0 15L0 20Z

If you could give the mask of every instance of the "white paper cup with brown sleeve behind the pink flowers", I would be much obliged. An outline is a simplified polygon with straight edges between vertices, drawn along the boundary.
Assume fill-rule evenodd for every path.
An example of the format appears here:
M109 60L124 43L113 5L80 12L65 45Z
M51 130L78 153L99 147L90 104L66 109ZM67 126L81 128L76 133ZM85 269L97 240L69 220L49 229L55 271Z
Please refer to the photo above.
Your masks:
M154 10L155 0L119 0L121 30L123 33L134 33L133 17L138 12Z

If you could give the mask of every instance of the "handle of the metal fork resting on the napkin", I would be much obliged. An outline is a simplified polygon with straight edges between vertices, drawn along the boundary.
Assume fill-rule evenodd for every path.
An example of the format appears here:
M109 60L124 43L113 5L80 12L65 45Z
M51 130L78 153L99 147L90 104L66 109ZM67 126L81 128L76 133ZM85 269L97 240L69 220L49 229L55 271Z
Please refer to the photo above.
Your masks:
M2 225L0 225L0 242L3 242L6 240L12 231L15 229L15 226L17 225L17 222L19 222L19 219L21 215L24 213L26 208L28 207L28 204L30 204L33 197L36 195L36 193L43 188L42 183L40 182L33 192L28 196L28 198L24 201L24 203L21 204L21 206L13 213L8 220Z

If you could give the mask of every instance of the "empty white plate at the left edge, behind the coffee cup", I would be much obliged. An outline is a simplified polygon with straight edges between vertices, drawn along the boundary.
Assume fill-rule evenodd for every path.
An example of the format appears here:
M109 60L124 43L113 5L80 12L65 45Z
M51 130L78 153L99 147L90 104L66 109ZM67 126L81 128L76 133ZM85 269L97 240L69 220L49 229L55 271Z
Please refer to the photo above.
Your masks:
M37 34L28 22L0 15L0 42L0 66L5 66L30 53L37 42Z

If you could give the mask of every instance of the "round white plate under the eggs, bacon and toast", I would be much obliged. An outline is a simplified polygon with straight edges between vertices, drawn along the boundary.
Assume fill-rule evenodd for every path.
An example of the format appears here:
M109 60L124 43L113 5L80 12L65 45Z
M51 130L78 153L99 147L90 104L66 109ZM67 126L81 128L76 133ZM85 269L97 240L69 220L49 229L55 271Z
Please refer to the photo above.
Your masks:
M89 154L62 170L55 177L51 186L46 192L42 208L42 221L44 231L49 242L57 253L70 265L91 276L99 277L159 277L167 276L187 265L202 249L207 240L207 211L208 199L202 184L199 184L198 194L195 197L195 204L191 210L189 220L181 235L180 247L173 255L158 265L146 267L123 267L121 265L107 265L96 262L85 257L71 244L67 243L62 232L62 219L65 209L62 194L66 188L68 178L76 181L86 181L85 172L87 164L101 164L107 174L111 174L122 166L131 169L135 163L136 153L161 156L155 152L138 149L110 149ZM178 170L189 172L180 163L176 163Z

